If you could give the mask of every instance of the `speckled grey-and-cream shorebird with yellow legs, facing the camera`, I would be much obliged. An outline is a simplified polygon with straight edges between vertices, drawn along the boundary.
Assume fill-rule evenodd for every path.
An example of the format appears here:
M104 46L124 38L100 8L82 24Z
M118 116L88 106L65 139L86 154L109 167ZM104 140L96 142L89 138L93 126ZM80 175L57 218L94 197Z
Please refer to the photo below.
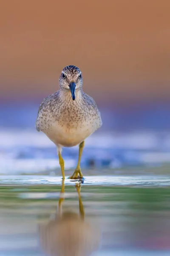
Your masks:
M85 139L102 126L96 102L82 90L82 80L78 67L64 67L59 76L59 90L43 99L35 122L37 131L42 131L57 146L63 180L62 147L79 145L77 167L69 178L83 179L80 160Z

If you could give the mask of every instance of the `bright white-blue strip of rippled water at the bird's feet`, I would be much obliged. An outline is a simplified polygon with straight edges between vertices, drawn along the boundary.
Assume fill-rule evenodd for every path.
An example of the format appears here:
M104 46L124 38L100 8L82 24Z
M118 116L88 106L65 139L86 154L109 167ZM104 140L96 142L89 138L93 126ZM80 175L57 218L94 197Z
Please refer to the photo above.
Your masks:
M61 184L61 176L48 175L2 175L0 184L38 185ZM73 180L65 179L65 184ZM101 175L85 176L85 185L112 185L112 186L170 186L170 176L167 175Z

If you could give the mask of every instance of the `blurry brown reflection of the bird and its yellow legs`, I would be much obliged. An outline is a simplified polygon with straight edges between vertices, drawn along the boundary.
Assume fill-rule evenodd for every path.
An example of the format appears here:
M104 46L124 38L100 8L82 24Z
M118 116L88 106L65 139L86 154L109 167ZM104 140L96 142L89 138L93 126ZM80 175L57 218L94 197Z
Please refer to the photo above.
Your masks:
M99 232L84 220L81 185L77 183L75 187L79 198L79 214L62 211L63 181L55 219L40 226L40 246L48 256L88 256L98 248Z

